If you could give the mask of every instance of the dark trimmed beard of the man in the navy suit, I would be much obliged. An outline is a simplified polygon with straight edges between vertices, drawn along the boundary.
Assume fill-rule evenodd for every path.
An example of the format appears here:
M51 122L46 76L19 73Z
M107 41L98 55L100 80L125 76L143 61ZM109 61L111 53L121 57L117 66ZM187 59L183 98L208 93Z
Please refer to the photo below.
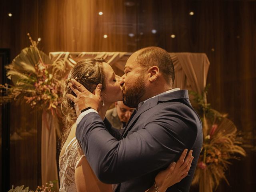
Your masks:
M140 76L134 85L130 88L123 86L123 102L126 106L130 108L137 108L138 104L141 102L142 96L145 94L145 87L143 84L144 76Z

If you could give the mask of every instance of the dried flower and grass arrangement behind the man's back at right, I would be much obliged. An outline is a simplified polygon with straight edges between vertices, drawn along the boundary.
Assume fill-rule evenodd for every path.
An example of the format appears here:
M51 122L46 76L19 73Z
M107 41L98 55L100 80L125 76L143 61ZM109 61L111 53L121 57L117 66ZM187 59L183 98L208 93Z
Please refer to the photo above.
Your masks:
M228 183L225 171L231 164L229 160L239 160L236 154L246 155L240 146L242 143L237 140L238 132L234 123L227 118L227 114L219 113L206 102L207 90L208 86L202 96L190 92L194 95L194 108L203 124L204 141L192 181L192 184L199 184L199 192L212 192L222 179Z

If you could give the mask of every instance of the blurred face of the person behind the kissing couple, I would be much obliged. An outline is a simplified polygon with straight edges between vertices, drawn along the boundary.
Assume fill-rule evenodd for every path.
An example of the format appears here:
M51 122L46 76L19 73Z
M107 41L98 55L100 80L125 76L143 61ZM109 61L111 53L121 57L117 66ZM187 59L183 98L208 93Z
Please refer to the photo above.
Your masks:
M134 108L130 108L130 107L124 105L124 103L122 101L116 102L115 106L116 106L116 112L117 112L117 115L118 115L118 118L120 119L120 121L128 122L128 120L130 119L130 117L132 115Z

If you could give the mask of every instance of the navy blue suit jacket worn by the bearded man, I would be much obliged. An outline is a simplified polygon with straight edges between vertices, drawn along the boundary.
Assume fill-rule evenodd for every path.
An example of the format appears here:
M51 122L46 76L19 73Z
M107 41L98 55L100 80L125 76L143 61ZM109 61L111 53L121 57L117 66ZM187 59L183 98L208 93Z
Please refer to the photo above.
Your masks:
M202 123L187 90L147 100L122 134L90 112L78 123L76 138L96 176L104 183L119 183L115 191L120 192L146 191L185 148L193 150L192 167L167 191L188 192L203 140Z

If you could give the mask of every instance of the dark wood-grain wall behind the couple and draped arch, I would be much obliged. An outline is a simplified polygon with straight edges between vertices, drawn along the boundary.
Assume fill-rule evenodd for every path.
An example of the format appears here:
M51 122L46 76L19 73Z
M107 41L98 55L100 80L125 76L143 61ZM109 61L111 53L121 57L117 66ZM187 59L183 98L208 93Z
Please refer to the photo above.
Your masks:
M238 130L255 137L256 1L130 0L133 6L124 6L125 2L0 1L0 48L11 48L14 58L29 46L26 33L30 32L34 39L42 38L40 48L46 53L134 52L146 46L160 46L168 52L205 52L211 63L208 102L228 113ZM190 11L195 14L190 16ZM11 18L8 12L12 12ZM108 38L103 38L104 34ZM176 37L170 38L171 34ZM20 122L17 114L28 114L27 110L13 108L14 122ZM253 139L248 139L248 144L256 145ZM243 161L234 161L227 172L231 186L223 183L217 191L253 191L255 160L254 150L248 151Z

